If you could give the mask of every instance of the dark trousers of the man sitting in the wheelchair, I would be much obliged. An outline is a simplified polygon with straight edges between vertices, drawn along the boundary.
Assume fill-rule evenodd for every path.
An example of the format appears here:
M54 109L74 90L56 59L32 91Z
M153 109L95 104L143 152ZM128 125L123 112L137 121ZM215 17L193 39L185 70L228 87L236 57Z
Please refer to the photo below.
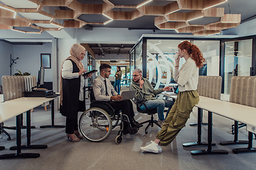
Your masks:
M122 111L122 114L125 114L128 116L129 121L132 123L134 118L134 111L132 107L132 101L126 100L126 101L109 101L108 102L112 108L115 110Z

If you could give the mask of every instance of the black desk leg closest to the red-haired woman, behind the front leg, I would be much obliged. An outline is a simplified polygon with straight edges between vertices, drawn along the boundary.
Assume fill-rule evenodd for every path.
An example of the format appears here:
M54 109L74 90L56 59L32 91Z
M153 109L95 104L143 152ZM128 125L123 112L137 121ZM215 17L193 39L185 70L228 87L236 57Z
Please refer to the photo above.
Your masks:
M203 109L198 108L198 142L188 142L183 143L183 147L193 147L193 146L202 146L202 145L208 145L206 142L201 142L201 135L202 135L202 115L203 115ZM212 143L212 146L215 146L215 143Z

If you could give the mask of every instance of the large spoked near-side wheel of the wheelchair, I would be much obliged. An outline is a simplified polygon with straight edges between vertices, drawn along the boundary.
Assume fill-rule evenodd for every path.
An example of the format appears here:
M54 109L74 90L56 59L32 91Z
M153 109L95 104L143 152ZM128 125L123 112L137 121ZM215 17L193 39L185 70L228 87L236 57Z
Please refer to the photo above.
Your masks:
M100 142L110 135L112 120L101 108L89 108L80 116L79 129L87 140Z

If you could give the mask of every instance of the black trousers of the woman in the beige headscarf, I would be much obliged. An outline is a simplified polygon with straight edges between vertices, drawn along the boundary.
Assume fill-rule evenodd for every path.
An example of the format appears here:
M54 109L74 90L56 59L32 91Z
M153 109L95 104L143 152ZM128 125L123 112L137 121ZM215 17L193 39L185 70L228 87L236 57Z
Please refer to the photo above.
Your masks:
M85 111L85 101L79 101L78 111ZM78 130L78 113L75 118L66 117L65 132L73 134L74 131Z

